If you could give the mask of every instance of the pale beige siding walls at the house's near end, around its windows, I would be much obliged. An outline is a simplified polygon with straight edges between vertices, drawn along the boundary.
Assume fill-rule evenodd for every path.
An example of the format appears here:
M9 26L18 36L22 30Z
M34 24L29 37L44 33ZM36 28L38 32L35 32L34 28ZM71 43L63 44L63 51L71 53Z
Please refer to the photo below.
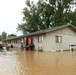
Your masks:
M62 36L62 43L56 43L55 36ZM43 35L43 43L38 43L38 36L33 36L35 50L43 47L44 51L68 50L70 44L76 44L76 32L69 27L52 31Z

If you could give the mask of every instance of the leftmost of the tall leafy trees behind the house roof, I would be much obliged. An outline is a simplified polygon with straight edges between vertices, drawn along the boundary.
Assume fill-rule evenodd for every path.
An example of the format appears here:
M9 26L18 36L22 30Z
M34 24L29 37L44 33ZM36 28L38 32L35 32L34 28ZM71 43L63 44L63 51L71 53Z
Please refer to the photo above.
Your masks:
M23 9L23 23L18 24L17 30L21 30L23 34L28 32L34 32L38 30L38 19L39 15L37 12L36 5L32 2L30 5L30 1L26 1L27 7Z

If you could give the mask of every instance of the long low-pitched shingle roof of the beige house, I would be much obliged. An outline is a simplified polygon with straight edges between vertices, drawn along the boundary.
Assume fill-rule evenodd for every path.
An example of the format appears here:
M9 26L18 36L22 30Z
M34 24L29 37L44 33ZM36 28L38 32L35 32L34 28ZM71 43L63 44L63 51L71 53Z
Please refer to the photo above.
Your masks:
M28 36L34 36L34 35L38 35L38 34L44 34L44 33L52 32L52 31L55 31L55 30L58 30L58 29L62 29L62 28L65 28L65 27L70 27L74 31L76 31L76 27L74 27L72 24L68 23L66 25L54 27L54 28L51 28L51 29L40 30L40 31L37 31L37 32L32 32L32 33L25 34L25 35L22 35L22 36L18 36L18 37L14 37L14 38L9 38L9 39L6 39L4 41L24 38L24 37L28 37Z

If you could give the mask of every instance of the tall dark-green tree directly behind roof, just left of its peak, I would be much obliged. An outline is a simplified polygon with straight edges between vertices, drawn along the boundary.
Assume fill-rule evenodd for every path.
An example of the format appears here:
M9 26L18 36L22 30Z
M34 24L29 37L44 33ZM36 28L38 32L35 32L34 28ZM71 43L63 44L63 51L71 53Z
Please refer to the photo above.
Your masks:
M66 23L66 15L72 12L71 6L75 5L75 0L49 0L53 6L52 26L60 26Z

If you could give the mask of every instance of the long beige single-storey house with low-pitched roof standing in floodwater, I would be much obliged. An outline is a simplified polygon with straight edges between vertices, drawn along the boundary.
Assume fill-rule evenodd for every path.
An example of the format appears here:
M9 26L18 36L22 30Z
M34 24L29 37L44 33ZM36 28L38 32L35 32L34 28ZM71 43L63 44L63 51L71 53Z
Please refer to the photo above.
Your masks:
M76 28L71 24L67 24L52 29L29 33L25 36L19 36L10 40L18 41L19 39L23 40L25 37L31 37L33 39L34 50L68 50L69 45L76 45ZM5 41L8 42L9 40ZM16 46L18 46L18 44L19 43L17 43Z

